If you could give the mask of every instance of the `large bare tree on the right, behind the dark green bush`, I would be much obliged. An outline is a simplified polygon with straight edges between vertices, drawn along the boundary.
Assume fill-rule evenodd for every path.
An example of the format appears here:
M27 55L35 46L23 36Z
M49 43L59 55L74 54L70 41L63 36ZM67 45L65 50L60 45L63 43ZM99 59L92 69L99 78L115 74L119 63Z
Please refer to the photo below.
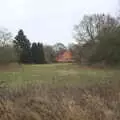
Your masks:
M119 21L104 14L85 15L78 25L74 27L74 38L77 41L77 60L88 62L97 46L107 36L108 32L113 33L119 26Z

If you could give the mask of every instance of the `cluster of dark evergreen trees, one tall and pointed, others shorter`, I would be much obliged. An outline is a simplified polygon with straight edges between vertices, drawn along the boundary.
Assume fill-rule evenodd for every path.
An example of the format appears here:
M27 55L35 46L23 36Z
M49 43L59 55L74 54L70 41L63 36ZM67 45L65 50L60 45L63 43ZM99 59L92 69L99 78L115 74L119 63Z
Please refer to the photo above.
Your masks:
M42 43L30 43L23 30L19 30L18 35L13 41L19 63L44 64L45 56Z

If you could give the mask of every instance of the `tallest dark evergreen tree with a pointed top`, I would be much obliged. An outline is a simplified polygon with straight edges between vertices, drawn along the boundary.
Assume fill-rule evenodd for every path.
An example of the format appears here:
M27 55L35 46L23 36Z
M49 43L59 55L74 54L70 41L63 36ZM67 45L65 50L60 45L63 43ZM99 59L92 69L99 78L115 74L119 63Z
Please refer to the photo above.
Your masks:
M14 45L20 58L19 62L30 63L31 62L30 41L24 35L23 30L19 30L18 35L15 37Z

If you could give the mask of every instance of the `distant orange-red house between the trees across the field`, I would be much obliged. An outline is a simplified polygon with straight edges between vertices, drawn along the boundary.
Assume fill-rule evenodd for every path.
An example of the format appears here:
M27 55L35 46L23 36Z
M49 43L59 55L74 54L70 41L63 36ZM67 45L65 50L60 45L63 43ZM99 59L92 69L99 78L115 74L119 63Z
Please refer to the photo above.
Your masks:
M73 62L72 52L62 51L56 57L57 62Z

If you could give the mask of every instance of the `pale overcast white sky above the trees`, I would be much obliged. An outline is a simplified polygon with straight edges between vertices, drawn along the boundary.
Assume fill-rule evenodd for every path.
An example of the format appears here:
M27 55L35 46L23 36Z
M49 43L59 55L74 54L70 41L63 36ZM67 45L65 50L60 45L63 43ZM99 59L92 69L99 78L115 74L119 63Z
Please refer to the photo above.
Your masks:
M31 42L74 42L73 27L84 14L116 15L119 0L0 0L0 27L15 36L23 29Z

